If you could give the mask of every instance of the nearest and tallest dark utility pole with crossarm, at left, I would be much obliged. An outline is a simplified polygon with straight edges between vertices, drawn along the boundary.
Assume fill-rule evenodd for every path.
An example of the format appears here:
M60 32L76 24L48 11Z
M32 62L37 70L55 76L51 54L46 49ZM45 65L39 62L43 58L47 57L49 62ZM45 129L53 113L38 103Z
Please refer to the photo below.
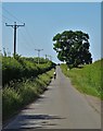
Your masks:
M25 26L25 23L23 25L16 25L16 22L14 22L14 25L8 25L8 23L5 23L5 26L11 26L14 28L14 58L16 55L16 28L20 26Z

